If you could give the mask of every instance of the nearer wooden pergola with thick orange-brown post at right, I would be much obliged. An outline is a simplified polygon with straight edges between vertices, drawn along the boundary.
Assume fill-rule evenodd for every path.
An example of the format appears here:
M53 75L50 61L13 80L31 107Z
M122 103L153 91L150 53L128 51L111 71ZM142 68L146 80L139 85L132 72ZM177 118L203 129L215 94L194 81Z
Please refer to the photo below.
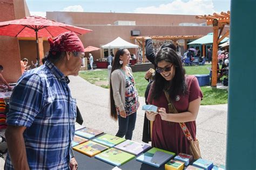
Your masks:
M196 16L199 19L206 19L207 25L213 26L213 45L212 45L212 87L217 87L217 64L218 64L218 45L225 37L230 35L230 30L227 30L222 37L225 25L230 25L230 11L213 13L213 15Z

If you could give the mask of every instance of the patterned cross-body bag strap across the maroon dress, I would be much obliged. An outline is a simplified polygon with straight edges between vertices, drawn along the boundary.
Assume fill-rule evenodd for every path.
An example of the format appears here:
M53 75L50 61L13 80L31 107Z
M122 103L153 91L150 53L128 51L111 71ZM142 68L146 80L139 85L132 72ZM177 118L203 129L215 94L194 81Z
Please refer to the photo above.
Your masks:
M164 94L165 94L165 97L167 98L167 101L168 101L168 109L169 109L169 112L172 111L172 113L174 114L177 114L178 111L177 109L174 107L173 103L172 103L172 100L170 100L170 95L167 93L167 91L164 90ZM182 129L185 137L187 138L187 140L191 141L193 140L191 134L190 134L190 131L187 129L187 126L184 122L182 123L179 123L180 125L180 128Z

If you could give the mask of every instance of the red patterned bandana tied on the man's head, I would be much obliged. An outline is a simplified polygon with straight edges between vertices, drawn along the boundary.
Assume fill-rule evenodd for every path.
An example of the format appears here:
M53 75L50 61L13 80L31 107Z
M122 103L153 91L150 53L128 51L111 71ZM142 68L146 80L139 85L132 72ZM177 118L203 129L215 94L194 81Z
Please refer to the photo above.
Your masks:
M50 43L50 52L84 52L84 45L82 41L78 38L77 34L68 31L62 34L59 34L58 37L48 38Z

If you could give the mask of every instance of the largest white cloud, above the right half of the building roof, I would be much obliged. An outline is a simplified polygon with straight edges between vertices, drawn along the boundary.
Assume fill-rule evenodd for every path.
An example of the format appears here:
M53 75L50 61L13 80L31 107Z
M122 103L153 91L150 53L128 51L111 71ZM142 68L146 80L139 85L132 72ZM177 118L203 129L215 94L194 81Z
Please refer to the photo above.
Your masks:
M135 13L159 13L159 14L180 14L180 15L207 15L214 13L212 0L189 0L183 2L174 0L169 4L159 6L148 6L137 8Z

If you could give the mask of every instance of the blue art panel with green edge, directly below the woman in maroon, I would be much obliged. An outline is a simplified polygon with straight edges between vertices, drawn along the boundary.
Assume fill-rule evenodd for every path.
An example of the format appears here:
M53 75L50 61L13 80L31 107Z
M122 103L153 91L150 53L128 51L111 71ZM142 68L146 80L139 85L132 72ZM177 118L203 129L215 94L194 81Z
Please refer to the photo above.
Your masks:
M159 148L153 147L151 150L140 155L136 160L141 161L145 164L152 165L154 167L160 167L167 160L171 159L175 153L161 150Z

